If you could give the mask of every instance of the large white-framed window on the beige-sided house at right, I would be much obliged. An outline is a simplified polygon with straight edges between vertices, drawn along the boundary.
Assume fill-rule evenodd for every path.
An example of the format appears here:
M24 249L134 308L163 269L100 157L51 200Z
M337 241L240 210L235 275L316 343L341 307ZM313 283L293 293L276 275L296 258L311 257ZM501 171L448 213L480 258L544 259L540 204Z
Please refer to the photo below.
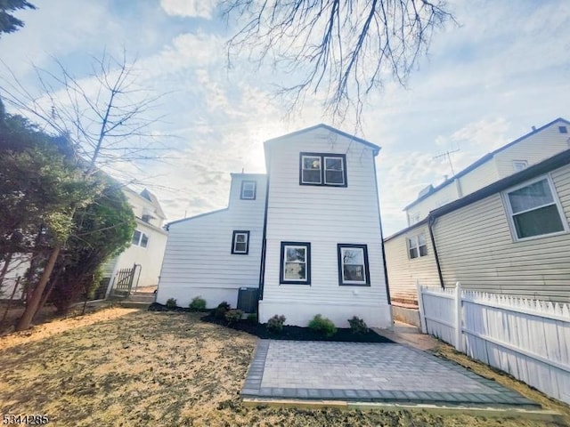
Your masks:
M504 193L516 239L567 230L566 220L552 187L550 179L542 177Z

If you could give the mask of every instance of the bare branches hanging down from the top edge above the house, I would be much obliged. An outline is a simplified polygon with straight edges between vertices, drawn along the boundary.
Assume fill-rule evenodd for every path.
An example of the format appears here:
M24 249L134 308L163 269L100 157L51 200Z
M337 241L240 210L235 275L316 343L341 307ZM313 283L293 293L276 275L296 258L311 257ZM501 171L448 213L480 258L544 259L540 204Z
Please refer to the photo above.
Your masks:
M358 124L368 95L387 79L406 85L436 28L455 22L444 0L224 0L223 7L240 22L230 66L242 52L258 67L271 61L292 78L277 93L293 109L316 97L334 119L354 112Z

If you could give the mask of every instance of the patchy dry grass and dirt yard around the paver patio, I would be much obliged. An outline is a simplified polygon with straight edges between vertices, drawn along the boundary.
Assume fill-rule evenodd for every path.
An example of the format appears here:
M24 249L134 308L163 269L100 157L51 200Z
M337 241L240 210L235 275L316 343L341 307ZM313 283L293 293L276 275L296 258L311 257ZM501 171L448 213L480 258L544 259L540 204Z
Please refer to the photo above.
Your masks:
M0 337L0 413L48 415L49 425L61 426L561 425L407 411L244 407L239 392L256 338L199 316L110 308ZM534 393L531 399L542 396L526 389Z

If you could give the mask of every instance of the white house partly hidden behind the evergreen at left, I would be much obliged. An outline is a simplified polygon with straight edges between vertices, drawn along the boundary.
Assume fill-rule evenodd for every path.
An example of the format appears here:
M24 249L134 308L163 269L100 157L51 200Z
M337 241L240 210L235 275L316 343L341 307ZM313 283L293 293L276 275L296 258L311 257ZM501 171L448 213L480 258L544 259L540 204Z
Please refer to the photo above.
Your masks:
M136 221L131 246L117 257L107 262L103 268L103 283L108 284L106 294L109 295L117 273L122 269L132 269L137 264L133 288L135 286L157 286L160 266L167 245L167 231L163 230L166 218L157 198L148 190L140 194L132 189L123 189L129 204L133 207ZM102 296L102 295L97 295Z

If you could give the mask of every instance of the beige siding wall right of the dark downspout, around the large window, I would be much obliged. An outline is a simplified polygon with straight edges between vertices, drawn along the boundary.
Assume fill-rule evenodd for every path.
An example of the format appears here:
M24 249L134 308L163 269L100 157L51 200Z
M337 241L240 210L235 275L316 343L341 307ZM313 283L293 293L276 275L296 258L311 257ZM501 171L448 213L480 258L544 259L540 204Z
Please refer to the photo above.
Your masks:
M550 176L568 222L570 165ZM437 219L445 286L570 302L570 234L516 242L507 215L498 193Z

